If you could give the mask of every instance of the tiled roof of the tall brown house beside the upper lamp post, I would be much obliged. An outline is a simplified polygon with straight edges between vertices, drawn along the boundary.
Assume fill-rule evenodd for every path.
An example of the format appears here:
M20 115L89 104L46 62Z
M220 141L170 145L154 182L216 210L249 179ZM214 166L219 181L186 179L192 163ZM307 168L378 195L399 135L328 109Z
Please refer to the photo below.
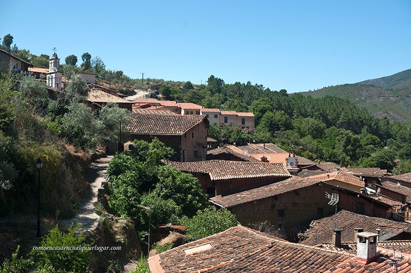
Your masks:
M163 112L165 111L157 111L155 114L132 113L124 132L181 135L206 118L205 115L170 115Z

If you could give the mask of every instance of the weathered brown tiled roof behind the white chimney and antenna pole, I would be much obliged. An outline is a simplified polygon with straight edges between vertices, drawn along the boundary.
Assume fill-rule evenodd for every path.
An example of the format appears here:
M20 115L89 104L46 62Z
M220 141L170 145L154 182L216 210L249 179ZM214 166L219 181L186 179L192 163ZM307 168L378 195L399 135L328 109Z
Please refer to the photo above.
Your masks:
M331 243L331 230L334 227L334 220L334 216L313 220L310 224L310 228L300 235L300 238L304 239L302 243L307 245ZM347 210L341 210L337 213L337 227L342 230L342 242L352 242L354 240L354 228L356 227L373 232L375 232L377 228L380 228L380 241L389 240L401 232L411 233L410 223L369 217Z

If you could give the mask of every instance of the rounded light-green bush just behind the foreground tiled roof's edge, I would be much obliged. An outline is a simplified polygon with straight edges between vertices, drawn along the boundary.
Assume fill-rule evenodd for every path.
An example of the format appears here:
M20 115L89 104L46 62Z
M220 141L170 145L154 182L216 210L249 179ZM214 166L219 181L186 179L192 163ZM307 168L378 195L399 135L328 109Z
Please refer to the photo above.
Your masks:
M198 240L224 231L239 223L235 215L228 209L217 210L215 207L210 206L197 211L193 218L183 221L183 224L191 239Z

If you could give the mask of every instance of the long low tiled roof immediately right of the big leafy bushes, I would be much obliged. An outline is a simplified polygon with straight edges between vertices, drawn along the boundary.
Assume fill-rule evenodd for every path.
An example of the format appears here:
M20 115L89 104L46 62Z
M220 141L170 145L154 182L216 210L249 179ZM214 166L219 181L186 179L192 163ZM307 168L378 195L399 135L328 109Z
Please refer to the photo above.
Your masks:
M196 162L164 161L185 172L208 173L210 179L228 180L257 177L290 177L284 164L228 160L207 160Z

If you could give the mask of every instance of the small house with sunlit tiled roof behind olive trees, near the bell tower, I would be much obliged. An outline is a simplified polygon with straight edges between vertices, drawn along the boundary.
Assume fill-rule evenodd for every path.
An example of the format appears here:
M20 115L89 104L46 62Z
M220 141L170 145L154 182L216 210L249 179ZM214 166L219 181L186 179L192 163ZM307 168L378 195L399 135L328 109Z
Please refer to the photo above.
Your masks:
M87 95L87 106L92 110L99 110L107 103L116 103L120 108L132 110L133 102L124 100L122 97L107 93L100 89L90 89Z

